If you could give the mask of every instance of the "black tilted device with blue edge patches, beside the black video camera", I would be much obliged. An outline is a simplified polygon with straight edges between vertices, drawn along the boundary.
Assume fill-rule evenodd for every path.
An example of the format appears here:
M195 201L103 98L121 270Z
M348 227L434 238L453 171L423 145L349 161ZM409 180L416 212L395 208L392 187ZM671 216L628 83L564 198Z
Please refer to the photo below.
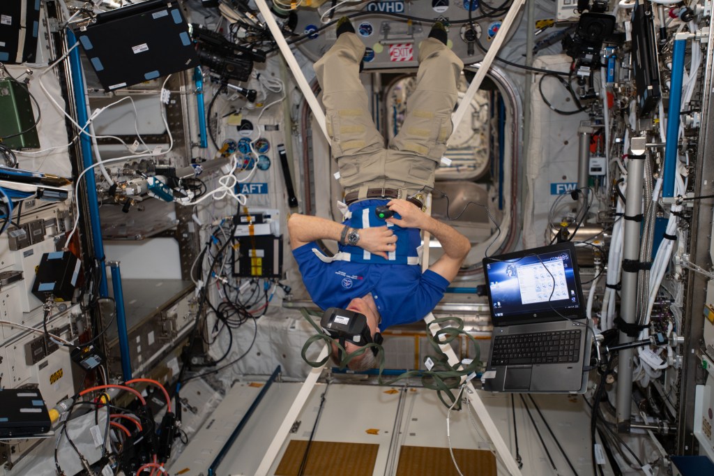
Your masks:
M106 91L198 66L198 54L177 1L123 6L75 31Z

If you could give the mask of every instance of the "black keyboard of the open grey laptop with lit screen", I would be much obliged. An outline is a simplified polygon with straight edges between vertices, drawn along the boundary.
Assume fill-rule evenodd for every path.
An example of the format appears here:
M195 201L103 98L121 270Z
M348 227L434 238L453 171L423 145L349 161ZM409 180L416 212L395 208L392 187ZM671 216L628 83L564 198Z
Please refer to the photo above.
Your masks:
M579 359L580 329L577 329L496 336L491 365L558 364Z

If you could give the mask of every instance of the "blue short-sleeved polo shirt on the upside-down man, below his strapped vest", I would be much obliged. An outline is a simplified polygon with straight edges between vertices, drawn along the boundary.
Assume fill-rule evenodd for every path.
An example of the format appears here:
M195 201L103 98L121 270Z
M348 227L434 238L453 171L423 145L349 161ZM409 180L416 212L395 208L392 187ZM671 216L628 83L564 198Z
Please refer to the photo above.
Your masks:
M388 262L381 257L374 257L373 262L323 262L316 253L322 255L315 242L293 250L313 302L321 309L345 308L352 299L371 293L382 318L381 331L423 319L441 300L449 284L440 274L428 269L422 273L421 267L414 264Z

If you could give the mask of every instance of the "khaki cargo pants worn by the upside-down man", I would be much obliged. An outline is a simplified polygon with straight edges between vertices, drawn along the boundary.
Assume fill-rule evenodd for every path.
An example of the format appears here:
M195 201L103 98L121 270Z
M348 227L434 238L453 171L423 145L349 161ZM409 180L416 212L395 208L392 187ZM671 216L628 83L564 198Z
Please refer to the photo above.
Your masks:
M359 79L364 45L356 34L341 34L315 63L322 88L332 155L344 192L399 189L400 198L433 187L434 171L446 152L453 129L451 113L458 99L463 62L441 41L428 38L418 51L416 91L407 102L399 133L384 147Z

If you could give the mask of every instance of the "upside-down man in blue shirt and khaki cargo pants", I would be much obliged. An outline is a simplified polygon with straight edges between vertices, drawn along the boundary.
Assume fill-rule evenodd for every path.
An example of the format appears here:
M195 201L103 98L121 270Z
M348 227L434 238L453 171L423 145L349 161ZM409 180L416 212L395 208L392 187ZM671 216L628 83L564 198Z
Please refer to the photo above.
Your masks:
M466 237L423 213L414 198L433 187L446 151L463 62L447 48L446 29L437 22L419 46L416 90L408 98L406 119L385 147L359 79L365 47L346 17L338 21L337 32L337 41L314 68L345 192L345 219L338 223L292 214L288 230L313 302L322 309L341 307L364 314L376 335L431 312L471 249ZM393 217L378 216L377 207L385 206ZM436 237L443 249L423 273L421 231ZM336 240L339 252L324 256L316 244L320 239ZM356 348L346 344L347 352ZM339 361L336 347L333 358ZM376 354L364 352L349 367L365 370L375 363Z

